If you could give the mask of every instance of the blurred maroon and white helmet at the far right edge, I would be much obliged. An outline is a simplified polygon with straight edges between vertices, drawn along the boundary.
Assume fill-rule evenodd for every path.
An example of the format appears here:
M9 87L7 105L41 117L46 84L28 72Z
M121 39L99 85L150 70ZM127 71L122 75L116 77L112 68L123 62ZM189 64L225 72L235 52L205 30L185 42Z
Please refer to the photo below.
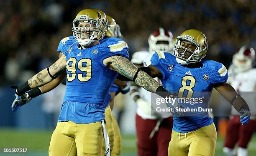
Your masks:
M233 64L237 72L245 72L251 69L255 61L255 50L252 47L242 46L236 54L233 55Z

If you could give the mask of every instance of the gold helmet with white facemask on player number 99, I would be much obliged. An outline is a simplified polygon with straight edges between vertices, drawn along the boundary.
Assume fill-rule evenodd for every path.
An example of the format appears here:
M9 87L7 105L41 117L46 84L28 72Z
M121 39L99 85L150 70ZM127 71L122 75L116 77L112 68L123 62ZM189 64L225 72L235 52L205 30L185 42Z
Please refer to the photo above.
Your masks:
M91 42L100 40L105 36L104 12L94 9L84 9L78 12L73 20L73 36L82 46L87 46Z

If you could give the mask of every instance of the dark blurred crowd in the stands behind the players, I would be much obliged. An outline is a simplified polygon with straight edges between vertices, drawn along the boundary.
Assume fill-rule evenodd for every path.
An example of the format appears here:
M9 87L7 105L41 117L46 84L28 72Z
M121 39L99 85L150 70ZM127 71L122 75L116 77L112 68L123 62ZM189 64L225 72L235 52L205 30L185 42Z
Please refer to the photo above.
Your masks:
M202 30L207 59L227 67L238 47L256 45L256 0L0 0L0 6L1 85L23 82L52 64L59 41L72 35L72 20L84 8L112 16L131 54L147 50L148 36L159 26L174 37Z

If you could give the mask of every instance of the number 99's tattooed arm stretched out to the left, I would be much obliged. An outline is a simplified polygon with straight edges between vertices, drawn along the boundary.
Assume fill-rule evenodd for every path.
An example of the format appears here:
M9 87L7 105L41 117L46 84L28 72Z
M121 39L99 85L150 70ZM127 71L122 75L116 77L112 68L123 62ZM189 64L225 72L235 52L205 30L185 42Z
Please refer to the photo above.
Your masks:
M64 55L61 56L54 64L49 67L49 73L47 68L43 69L41 72L38 72L38 74L34 75L31 79L28 80L28 82L20 85L16 89L16 94L20 96L30 89L41 87L44 84L51 82L53 80L52 77L59 77L61 74L66 72L66 60L67 59Z

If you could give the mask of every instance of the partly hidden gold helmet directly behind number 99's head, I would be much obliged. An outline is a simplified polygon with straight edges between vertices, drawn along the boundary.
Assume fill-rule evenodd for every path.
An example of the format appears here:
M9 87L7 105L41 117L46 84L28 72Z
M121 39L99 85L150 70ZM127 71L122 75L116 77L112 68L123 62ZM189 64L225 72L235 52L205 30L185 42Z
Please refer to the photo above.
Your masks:
M107 37L123 38L119 25L115 22L113 17L107 15L108 18L108 31L106 32Z

